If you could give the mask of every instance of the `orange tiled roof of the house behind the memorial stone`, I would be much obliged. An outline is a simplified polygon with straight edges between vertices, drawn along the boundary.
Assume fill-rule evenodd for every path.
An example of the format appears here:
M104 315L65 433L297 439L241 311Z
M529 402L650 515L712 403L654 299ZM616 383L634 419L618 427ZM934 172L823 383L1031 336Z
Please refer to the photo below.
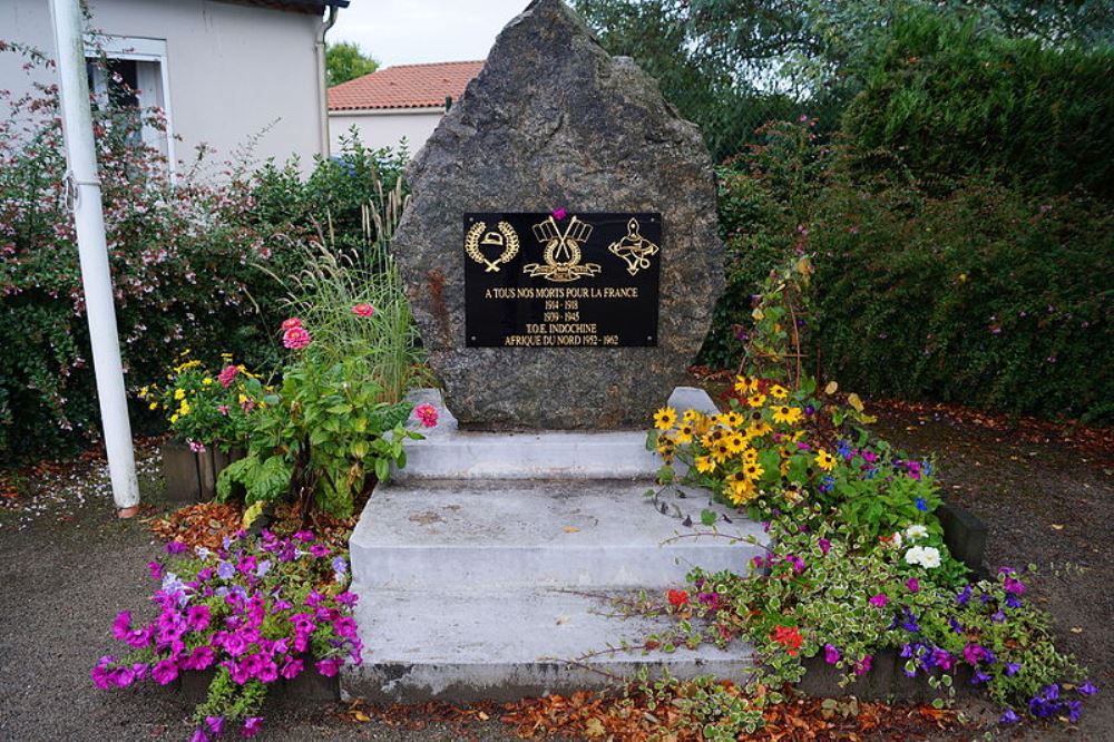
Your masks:
M428 108L460 97L483 60L398 65L329 88L329 110Z

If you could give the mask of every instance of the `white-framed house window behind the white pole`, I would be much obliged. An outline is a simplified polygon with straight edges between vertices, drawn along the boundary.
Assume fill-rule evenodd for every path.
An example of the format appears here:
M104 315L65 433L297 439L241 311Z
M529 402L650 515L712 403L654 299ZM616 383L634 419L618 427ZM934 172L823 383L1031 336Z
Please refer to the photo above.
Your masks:
M97 36L86 42L89 90L98 100L125 108L160 109L166 130L143 127L143 140L162 152L174 169L174 121L170 117L166 41L125 36Z

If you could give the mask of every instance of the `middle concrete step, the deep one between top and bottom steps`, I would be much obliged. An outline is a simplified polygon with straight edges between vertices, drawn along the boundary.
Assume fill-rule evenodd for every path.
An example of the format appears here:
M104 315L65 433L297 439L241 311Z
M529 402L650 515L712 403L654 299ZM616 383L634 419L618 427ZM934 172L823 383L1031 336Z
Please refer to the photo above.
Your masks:
M666 496L701 531L704 508L721 534L658 512L646 481L469 480L381 486L352 534L353 578L371 589L584 587L663 589L693 566L743 572L761 527L711 504L709 492ZM730 525L722 516L732 518Z

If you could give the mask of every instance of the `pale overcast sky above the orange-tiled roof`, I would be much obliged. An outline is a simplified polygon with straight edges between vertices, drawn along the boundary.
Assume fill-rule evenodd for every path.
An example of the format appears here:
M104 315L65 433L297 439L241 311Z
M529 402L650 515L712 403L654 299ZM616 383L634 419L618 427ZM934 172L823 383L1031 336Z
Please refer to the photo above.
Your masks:
M354 41L381 67L483 59L529 0L352 0L329 41Z

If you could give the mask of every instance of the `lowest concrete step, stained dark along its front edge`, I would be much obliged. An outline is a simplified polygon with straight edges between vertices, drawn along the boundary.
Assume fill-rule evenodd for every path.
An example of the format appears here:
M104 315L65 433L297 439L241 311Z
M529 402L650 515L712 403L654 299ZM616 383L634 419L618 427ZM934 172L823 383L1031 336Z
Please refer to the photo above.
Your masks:
M511 701L605 687L613 682L605 673L629 677L642 667L740 678L752 663L752 647L742 643L643 653L649 635L673 622L606 615L615 608L602 597L520 588L354 589L364 663L346 667L342 685L372 702ZM586 657L624 642L639 648Z

